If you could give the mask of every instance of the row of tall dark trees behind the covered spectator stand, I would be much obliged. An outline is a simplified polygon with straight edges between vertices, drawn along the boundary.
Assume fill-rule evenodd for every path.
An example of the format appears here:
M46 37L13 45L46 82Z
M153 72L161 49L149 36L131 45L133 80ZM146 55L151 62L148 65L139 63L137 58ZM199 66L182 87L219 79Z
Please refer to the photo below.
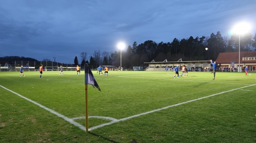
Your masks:
M208 50L205 50L208 48ZM250 33L240 35L240 51L255 51L256 50L256 34ZM156 43L152 40L147 40L144 43L137 45L134 42L132 46L128 46L126 51L122 51L122 67L124 69L132 69L133 66L147 66L145 62L152 60L161 62L177 61L182 58L183 61L190 60L216 60L219 53L239 51L239 35L232 35L230 38L222 37L221 32L212 33L208 37L189 37L174 40L170 43ZM90 60L85 61L86 52L81 52L81 65L88 63L90 65L111 65L120 66L120 50L114 52L94 51ZM79 64L78 58L75 57L75 64Z

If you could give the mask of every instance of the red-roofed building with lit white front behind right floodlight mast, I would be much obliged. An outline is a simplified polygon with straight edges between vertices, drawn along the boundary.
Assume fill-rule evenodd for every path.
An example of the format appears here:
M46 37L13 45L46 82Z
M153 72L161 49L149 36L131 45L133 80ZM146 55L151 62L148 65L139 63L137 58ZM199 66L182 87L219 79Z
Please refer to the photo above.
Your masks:
M238 69L239 52L219 53L216 61L222 68ZM245 66L248 66L249 71L256 71L256 51L240 52L240 67L244 69Z

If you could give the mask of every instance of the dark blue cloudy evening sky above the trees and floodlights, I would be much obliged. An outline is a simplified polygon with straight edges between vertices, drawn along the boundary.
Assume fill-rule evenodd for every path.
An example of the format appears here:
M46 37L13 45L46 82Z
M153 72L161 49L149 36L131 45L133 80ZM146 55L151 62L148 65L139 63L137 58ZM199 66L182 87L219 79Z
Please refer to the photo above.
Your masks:
M256 0L0 0L0 57L73 63L117 43L210 36L241 21L256 33ZM127 46L125 50L127 49Z

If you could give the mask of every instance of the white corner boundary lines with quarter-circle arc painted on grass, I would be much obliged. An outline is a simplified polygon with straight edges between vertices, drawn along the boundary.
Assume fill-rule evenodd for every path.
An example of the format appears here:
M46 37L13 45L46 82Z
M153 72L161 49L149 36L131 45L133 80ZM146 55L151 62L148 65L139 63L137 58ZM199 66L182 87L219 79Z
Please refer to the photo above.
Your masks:
M255 86L255 85L256 85L256 84L253 84L253 85L250 85L250 86ZM90 128L90 129L88 129L88 131L92 131L92 130L94 130L94 129L98 129L98 128L101 128L101 127L104 127L104 126L107 126L107 125L111 125L111 124L113 124L113 123L117 123L117 122L120 122L120 121L124 121L124 120L131 119L131 118L134 118L134 117L139 117L139 116L141 116L141 115L145 115L145 114L157 112L157 111L160 111L160 110L163 110L163 109L168 109L168 108L175 107L175 106L178 106L178 105L190 103L190 102L193 102L193 101L196 101L196 100L201 100L201 99L204 99L204 98L212 97L212 96L215 96L215 95L218 95L218 94L223 94L223 93L226 93L226 92L232 92L232 91L234 91L234 90L243 89L243 88L250 87L250 86L244 86L244 87L240 87L240 88L237 88L237 89L231 89L231 90L229 90L229 91L225 91L225 92L220 92L220 93L212 94L212 95L209 95L209 96L197 98L197 99L194 99L194 100L189 100L189 101L182 102L182 103L177 103L177 104L175 104L175 105L166 106L166 107L163 107L163 108L160 108L160 109L156 109L156 110L152 110L152 111L148 111L148 112L136 114L136 115L133 115L133 116L130 116L130 117L122 118L122 119L115 119L115 118L111 118L111 117L91 116L91 117L105 118L105 119L112 120L112 121L109 122L109 123L101 124L101 125L99 125L99 126L94 126L94 127ZM71 124L73 124L73 125L75 125L75 126L79 127L80 129L82 129L82 130L85 131L85 127L84 127L84 126L82 126L81 124L79 124L79 123L77 123L77 122L74 121L75 119L80 119L80 118L84 118L84 117L78 117L78 118L70 119L70 118L68 118L68 117L66 117L66 116L64 116L64 115L62 115L62 114L59 114L58 112L53 111L52 109L49 109L49 108L47 108L47 107L45 107L45 106L43 106L43 105L41 105L41 104L39 104L39 103L37 103L37 102L35 102L35 101L33 101L33 100L30 100L29 98L23 97L22 95L20 95L20 94L18 94L18 93L16 93L16 92L13 92L13 91L10 90L10 89L7 89L7 88L5 88L5 87L3 87L3 86L1 86L1 85L0 85L0 87L2 87L3 89L8 90L9 92L12 92L12 93L18 95L18 96L20 96L20 97L22 97L22 98L24 98L24 99L26 99L26 100L28 100L28 101L30 101L30 102L32 102L32 103L38 105L38 106L40 106L40 107L43 108L43 109L46 109L47 111L51 112L52 114L55 114L55 115L57 115L58 117L61 117L61 118L63 118L64 120L67 120L67 121L70 122Z

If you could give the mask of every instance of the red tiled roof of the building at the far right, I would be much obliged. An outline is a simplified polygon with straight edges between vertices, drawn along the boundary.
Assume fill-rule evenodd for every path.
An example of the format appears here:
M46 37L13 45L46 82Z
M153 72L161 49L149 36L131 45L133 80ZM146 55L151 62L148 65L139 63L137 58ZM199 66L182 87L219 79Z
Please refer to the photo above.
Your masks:
M242 60L242 57L256 57L256 51L240 52L240 63L256 63L256 60ZM239 63L239 52L219 53L216 61L217 63L230 63L231 61Z

